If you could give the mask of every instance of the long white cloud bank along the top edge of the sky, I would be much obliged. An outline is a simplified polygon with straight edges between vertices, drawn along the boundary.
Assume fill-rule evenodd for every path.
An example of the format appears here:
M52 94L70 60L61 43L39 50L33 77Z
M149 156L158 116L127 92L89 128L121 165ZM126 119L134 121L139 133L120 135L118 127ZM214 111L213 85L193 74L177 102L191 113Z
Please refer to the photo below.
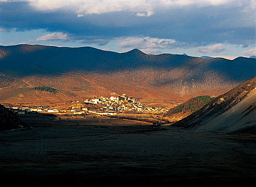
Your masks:
M3 1L3 0L0 0ZM139 17L149 17L156 9L168 9L181 6L218 6L232 4L238 6L241 0L24 0L42 11L58 9L71 10L78 15L100 14L107 12L132 11L138 12ZM247 1L247 0L244 0ZM251 7L255 6L251 0ZM145 13L141 13L145 12Z

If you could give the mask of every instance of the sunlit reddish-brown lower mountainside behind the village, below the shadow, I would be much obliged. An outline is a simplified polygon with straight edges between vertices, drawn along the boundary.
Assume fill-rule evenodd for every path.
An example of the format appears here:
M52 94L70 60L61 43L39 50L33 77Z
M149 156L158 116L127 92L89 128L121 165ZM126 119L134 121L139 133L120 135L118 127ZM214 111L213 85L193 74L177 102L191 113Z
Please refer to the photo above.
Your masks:
M128 96L139 98L141 103L149 106L172 108L173 104L181 104L198 95L218 96L228 91L231 86L201 88L200 90L191 90L189 87L180 89L178 85L174 87L172 84L159 87L149 83L151 81L149 77L153 80L156 75L146 77L146 74L148 74L146 71L144 75L140 76L137 76L136 72L112 74L73 72L55 76L26 76L16 80L5 75L2 77L9 79L9 83L1 81L0 103L59 106L74 100L82 101L100 96L110 97L114 91L120 95L126 93ZM157 74L157 72L153 74ZM38 85L49 86L59 92L53 94L32 89Z

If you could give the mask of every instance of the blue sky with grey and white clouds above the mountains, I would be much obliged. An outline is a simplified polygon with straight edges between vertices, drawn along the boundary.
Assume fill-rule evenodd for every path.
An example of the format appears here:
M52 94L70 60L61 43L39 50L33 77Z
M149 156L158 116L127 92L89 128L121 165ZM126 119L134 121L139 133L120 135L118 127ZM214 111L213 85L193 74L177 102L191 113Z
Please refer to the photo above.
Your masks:
M0 45L256 55L256 0L0 0Z

